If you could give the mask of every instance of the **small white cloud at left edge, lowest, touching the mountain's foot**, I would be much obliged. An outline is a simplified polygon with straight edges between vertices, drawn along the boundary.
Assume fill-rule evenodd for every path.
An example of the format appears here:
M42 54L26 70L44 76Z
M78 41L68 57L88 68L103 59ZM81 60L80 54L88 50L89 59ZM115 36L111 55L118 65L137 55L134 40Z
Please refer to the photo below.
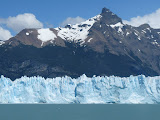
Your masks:
M8 30L5 30L2 27L0 27L0 40L8 40L11 37L12 35Z

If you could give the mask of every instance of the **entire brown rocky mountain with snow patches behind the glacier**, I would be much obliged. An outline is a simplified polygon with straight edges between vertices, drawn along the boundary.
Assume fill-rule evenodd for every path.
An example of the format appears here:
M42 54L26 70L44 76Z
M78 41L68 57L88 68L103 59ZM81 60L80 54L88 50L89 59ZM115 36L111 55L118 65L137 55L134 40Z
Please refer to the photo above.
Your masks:
M109 9L64 28L24 29L0 43L0 74L45 78L160 75L160 29L124 24Z

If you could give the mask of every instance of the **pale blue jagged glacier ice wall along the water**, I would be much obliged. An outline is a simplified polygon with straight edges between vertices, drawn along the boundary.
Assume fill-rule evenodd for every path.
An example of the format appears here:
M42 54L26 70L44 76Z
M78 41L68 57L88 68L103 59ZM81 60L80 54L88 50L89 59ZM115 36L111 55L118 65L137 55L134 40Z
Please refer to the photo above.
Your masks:
M0 103L158 104L160 76L0 78Z

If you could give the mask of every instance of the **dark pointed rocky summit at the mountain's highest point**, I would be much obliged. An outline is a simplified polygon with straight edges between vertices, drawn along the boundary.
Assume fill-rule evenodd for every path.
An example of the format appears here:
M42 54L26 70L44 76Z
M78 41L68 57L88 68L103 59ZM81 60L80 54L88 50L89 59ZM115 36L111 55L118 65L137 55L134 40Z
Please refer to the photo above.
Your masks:
M119 22L122 23L122 19L107 8L102 9L101 16L102 16L101 21L104 22L105 24L111 25Z

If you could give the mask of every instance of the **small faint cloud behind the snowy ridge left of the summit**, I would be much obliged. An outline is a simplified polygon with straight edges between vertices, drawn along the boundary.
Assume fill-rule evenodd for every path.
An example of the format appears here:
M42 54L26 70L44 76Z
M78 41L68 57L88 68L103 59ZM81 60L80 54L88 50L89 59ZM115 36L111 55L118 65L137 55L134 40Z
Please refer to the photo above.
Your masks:
M76 17L76 18L72 18L72 17L68 17L66 20L64 20L62 23L61 23L61 26L65 26L67 24L71 24L71 25L74 25L74 24L78 24L78 23L81 23L81 22L84 22L85 19L84 18L81 18L81 17Z

